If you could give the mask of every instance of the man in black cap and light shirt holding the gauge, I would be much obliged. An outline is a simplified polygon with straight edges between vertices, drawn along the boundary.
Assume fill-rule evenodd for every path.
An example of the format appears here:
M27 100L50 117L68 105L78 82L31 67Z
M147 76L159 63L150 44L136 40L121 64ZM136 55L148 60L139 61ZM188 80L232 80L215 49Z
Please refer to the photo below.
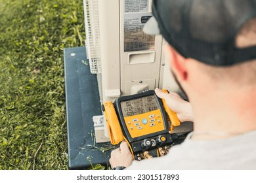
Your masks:
M194 131L166 156L142 161L132 162L122 142L112 167L256 169L256 0L156 0L152 12L144 31L169 43L171 71L190 103L156 93L182 121L193 118Z

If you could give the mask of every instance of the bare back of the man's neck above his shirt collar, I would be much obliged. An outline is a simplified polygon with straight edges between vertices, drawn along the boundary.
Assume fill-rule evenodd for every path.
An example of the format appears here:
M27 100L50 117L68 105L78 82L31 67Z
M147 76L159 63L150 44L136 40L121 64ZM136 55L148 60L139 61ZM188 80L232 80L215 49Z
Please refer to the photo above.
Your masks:
M194 133L200 134L197 139L220 139L255 130L254 91L256 88L195 95L190 101L194 111Z

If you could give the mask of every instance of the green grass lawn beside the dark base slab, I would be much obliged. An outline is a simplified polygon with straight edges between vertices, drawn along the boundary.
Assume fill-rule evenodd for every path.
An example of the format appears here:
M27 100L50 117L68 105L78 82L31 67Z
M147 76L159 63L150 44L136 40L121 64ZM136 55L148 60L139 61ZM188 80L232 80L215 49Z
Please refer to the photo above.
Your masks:
M84 39L82 0L0 0L0 169L68 169L63 49Z

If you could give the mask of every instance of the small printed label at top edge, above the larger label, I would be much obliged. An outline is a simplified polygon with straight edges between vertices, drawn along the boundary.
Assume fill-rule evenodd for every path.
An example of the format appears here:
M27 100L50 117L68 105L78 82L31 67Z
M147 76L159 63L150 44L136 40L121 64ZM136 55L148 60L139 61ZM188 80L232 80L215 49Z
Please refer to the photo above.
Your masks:
M148 12L148 0L125 0L124 12Z

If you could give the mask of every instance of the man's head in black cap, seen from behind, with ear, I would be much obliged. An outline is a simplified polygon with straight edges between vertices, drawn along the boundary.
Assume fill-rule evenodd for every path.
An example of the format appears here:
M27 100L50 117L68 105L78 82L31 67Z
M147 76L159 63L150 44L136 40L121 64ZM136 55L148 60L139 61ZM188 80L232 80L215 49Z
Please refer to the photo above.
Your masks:
M169 43L188 97L208 86L256 86L256 0L153 0L152 12L144 32Z

